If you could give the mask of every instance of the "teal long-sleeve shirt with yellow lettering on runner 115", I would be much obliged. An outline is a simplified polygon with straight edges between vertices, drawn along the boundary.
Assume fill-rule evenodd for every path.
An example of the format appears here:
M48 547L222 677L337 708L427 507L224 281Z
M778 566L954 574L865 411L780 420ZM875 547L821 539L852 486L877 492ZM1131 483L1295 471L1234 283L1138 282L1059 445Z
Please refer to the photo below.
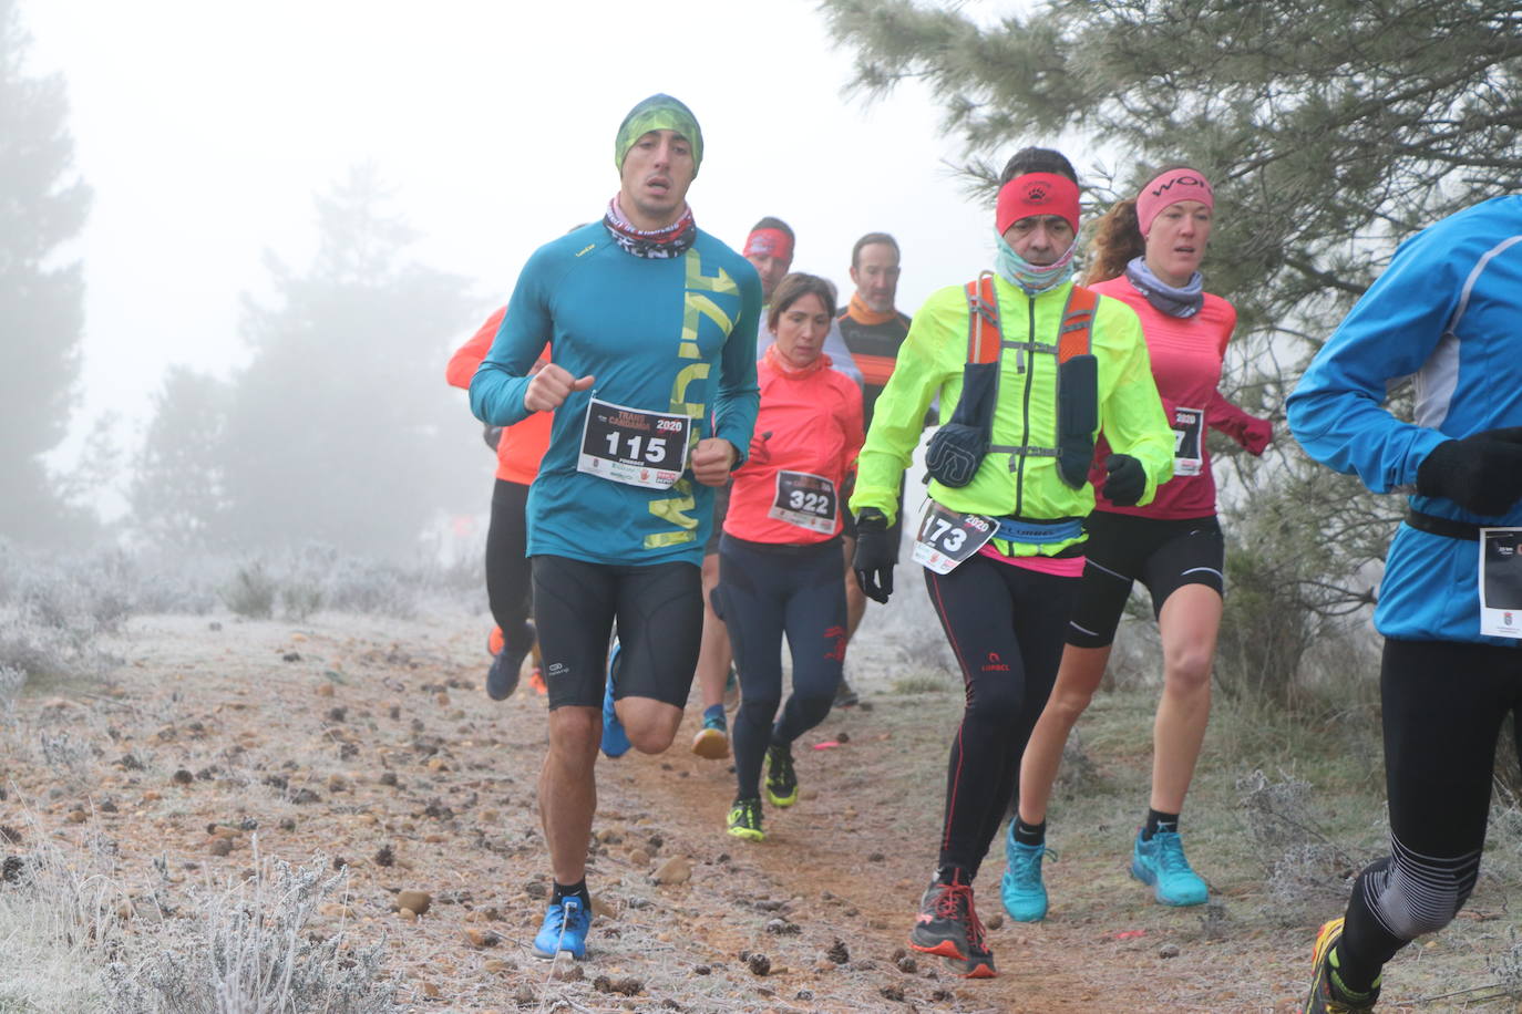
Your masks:
M759 313L755 269L703 231L671 258L627 252L601 222L534 251L470 382L470 410L493 426L527 418L528 371L546 341L551 362L595 382L556 409L549 448L528 494L530 556L702 564L714 491L693 479L691 468L670 490L577 471L581 430L594 397L682 414L693 420L689 448L720 436L735 445L738 467L759 404Z

